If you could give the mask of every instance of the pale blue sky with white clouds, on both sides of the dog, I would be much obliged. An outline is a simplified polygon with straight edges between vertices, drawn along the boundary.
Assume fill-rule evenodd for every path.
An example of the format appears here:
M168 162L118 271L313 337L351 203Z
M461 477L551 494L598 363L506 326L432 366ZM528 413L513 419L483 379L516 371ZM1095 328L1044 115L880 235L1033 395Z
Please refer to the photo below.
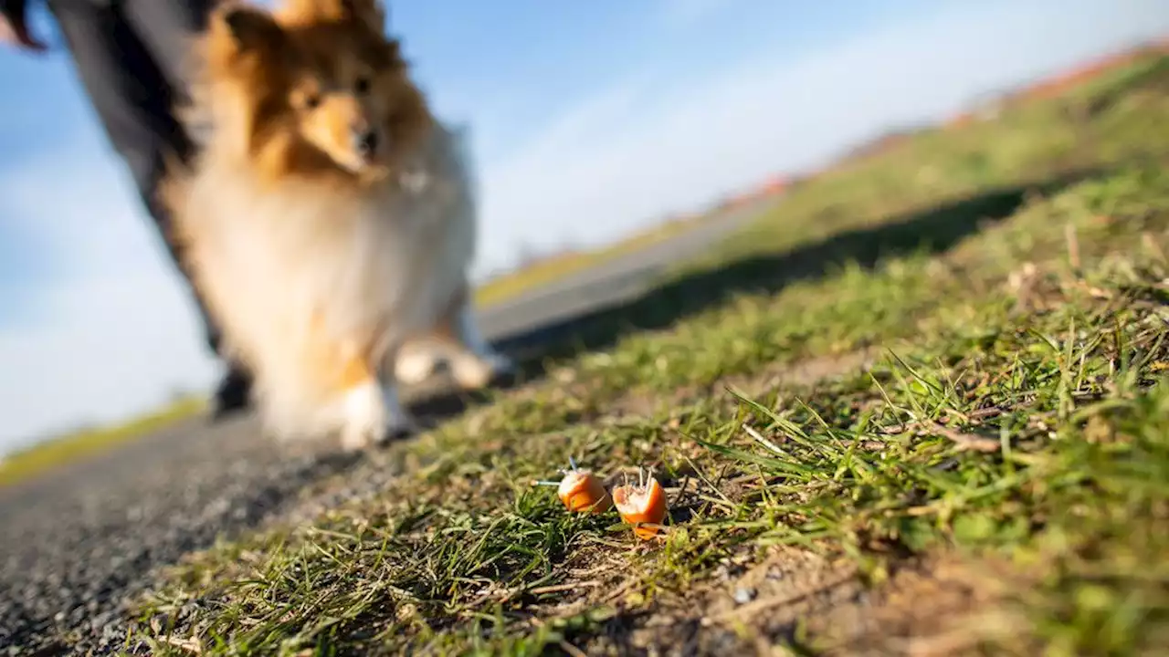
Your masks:
M483 276L1169 35L1169 0L396 0L388 22L471 129ZM0 88L0 452L207 389L219 365L68 54L2 50Z

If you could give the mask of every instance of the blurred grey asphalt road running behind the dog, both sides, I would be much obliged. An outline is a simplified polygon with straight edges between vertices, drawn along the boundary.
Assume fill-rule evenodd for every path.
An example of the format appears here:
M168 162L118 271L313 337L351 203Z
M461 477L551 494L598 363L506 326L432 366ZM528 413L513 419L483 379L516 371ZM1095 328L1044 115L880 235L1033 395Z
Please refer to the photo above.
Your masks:
M570 332L574 317L650 290L666 268L774 202L726 213L486 309L483 330L509 352L539 347ZM215 427L195 419L0 489L0 646L56 653L54 637L71 634L83 650L110 650L124 636L125 596L147 586L150 569L279 514L306 486L348 465L282 451L251 417ZM359 487L376 490L383 482L376 477L389 476L373 470L380 473Z

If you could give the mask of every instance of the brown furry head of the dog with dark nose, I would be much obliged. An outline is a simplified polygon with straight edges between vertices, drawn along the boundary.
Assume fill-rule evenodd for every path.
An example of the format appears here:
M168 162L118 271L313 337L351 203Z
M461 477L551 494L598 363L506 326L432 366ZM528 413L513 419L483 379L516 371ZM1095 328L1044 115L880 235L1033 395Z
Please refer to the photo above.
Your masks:
M400 164L429 113L375 0L290 0L279 14L216 14L213 75L234 77L250 151L291 170L365 178ZM304 171L307 173L307 171Z

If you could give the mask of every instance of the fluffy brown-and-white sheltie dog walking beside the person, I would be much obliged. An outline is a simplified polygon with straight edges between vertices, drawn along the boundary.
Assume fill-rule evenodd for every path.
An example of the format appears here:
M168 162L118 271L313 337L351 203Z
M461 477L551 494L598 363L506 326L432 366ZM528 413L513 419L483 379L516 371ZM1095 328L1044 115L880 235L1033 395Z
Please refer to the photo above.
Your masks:
M198 43L198 159L165 200L268 429L410 433L397 372L507 367L475 332L475 199L457 134L411 82L376 0L230 4ZM403 345L409 358L400 359Z

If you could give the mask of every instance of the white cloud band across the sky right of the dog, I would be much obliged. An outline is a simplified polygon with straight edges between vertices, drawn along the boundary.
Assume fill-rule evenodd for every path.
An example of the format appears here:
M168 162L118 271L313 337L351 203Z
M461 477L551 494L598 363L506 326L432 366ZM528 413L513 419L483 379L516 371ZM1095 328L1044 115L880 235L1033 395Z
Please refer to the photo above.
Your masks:
M1163 9L1160 0L970 4L794 61L761 53L706 79L663 87L630 71L519 152L485 162L479 270L506 265L519 243L614 240L818 164L883 126L1163 34Z

